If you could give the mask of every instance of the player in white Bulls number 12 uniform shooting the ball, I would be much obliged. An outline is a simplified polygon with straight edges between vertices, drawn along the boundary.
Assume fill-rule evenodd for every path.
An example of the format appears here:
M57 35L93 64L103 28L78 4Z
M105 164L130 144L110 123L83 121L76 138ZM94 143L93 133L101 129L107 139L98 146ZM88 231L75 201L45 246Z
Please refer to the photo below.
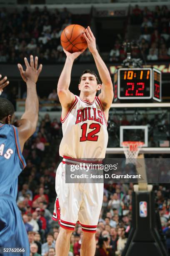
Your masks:
M80 97L70 92L72 65L82 51L71 54L64 50L67 58L57 85L62 105L63 133L59 149L63 160L56 172L57 199L53 213L53 220L59 220L61 227L56 241L57 256L68 255L70 236L77 220L83 231L80 255L95 255L95 231L102 207L103 184L65 183L66 164L77 164L76 159L105 158L108 141L107 120L113 99L112 81L96 49L95 37L90 27L85 30L84 38L95 60L102 84L94 72L85 70L78 85ZM100 89L101 93L96 97Z

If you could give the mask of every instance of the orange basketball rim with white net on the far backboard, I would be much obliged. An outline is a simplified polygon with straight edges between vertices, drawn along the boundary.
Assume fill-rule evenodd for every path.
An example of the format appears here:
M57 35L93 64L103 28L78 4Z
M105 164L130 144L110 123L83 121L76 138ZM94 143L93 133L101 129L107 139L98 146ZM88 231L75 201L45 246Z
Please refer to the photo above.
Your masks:
M126 164L135 164L140 148L144 145L141 141L123 141L123 151L126 157Z

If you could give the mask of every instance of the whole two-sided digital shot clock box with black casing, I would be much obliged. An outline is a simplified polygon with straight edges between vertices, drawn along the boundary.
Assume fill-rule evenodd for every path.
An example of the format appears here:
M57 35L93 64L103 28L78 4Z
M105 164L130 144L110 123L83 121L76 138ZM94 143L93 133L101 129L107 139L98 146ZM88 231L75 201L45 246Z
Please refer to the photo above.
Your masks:
M120 68L114 74L114 101L161 101L161 72L152 68Z

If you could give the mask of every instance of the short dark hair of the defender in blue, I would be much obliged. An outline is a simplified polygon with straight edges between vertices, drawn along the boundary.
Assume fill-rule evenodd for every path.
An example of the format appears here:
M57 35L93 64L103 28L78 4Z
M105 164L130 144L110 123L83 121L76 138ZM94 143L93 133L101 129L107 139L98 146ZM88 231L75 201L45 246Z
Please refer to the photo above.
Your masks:
M13 115L15 112L13 104L5 99L0 97L0 120L7 117L8 115Z

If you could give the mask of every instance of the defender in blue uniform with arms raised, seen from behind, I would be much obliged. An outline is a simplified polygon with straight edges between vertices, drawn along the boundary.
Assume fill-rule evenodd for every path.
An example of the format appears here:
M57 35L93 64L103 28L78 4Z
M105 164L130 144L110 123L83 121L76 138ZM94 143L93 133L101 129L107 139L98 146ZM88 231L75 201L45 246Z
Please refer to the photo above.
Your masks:
M23 71L20 64L18 68L27 84L27 98L25 113L18 121L17 127L11 125L13 104L0 97L0 247L20 248L19 252L15 251L15 255L18 256L30 256L28 235L16 204L16 197L18 176L26 166L22 155L24 143L35 132L37 126L39 103L36 82L42 70L42 65L37 69L37 57L35 63L33 56L30 56L30 64L26 58L24 60L26 70ZM8 81L0 82L0 92L7 84ZM2 253L4 256L12 254L9 251Z

